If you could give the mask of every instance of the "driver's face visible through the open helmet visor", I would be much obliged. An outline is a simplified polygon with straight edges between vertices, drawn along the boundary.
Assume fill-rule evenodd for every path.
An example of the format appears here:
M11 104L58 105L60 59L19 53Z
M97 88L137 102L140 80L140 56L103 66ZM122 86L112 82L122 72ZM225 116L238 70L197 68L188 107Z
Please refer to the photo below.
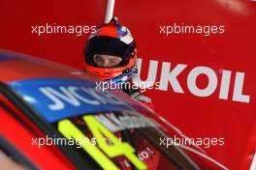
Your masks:
M98 67L112 68L120 64L122 59L118 56L95 54L93 60Z

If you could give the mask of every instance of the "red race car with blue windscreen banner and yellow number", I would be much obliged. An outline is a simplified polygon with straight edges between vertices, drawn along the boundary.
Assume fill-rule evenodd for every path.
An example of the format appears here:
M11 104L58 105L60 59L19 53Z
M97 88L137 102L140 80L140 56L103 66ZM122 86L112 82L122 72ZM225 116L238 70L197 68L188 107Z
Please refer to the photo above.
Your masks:
M176 128L82 71L1 50L0 72L4 169L228 169L170 143Z

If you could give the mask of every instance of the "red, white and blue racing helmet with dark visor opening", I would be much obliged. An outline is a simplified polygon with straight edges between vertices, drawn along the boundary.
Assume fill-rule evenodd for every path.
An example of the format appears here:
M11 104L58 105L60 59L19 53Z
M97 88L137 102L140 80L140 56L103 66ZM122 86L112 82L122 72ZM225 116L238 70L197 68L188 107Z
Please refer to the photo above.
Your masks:
M84 70L104 80L126 82L137 72L136 42L128 28L117 23L116 17L96 28L84 46ZM121 62L112 68L103 68L93 60L95 54L113 55Z

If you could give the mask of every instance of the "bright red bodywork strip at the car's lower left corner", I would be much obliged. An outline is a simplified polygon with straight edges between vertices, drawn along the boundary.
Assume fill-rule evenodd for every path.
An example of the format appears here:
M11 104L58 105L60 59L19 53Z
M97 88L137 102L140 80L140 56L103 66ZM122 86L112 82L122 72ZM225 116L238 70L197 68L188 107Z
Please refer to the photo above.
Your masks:
M39 148L32 144L32 138L43 137L40 129L36 128L24 116L20 116L20 111L3 96L0 96L0 102L9 107L8 110L0 107L0 134L11 142L23 156L26 156L36 167L41 169L51 169L52 167L57 169L76 169L55 146ZM22 120L22 123L17 121L18 119Z

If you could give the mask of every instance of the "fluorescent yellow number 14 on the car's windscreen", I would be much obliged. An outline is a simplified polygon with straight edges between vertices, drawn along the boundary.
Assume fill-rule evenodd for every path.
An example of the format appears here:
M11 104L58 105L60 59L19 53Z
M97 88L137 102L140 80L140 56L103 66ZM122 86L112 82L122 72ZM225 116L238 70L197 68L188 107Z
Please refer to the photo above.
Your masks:
M97 121L93 116L83 116L83 120L87 127L92 132L93 136L96 138L97 144L101 150L99 150L95 145L80 143L82 149L94 158L95 161L103 169L118 170L119 168L112 162L109 157L115 156L125 156L130 160L138 169L146 169L144 162L136 156L135 149L126 142L121 142L118 138L107 128L105 128L101 123ZM58 122L58 130L67 138L74 138L77 141L82 141L81 139L87 140L88 138L77 128L70 120L63 120ZM106 142L105 137L107 137L112 145ZM106 154L107 156L105 156ZM108 157L109 156L109 157Z

